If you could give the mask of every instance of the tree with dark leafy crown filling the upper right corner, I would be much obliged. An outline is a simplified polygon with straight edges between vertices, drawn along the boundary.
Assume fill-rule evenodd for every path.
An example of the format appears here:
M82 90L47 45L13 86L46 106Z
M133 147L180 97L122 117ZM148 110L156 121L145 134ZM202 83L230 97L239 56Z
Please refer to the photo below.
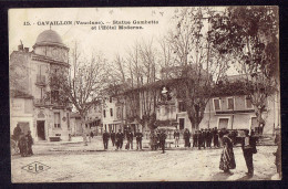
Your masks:
M276 7L232 7L212 19L213 45L228 54L246 81L246 94L260 126L268 96L279 84L278 10ZM261 127L261 130L263 130Z

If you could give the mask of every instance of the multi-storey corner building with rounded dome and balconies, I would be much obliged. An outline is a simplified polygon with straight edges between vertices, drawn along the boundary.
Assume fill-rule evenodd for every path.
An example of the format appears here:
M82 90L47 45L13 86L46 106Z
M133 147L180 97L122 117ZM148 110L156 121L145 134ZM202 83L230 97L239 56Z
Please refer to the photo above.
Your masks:
M60 101L59 88L50 86L51 73L68 69L69 48L52 30L43 31L38 35L32 51L20 44L18 51L11 53L10 80L13 83L10 90L17 88L32 96L29 115L22 114L20 118L16 114L16 108L24 104L25 109L28 99L14 98L11 95L11 132L20 123L25 127L23 130L31 130L35 140L49 140L51 137L69 139L71 106ZM23 120L23 117L29 117L29 120Z

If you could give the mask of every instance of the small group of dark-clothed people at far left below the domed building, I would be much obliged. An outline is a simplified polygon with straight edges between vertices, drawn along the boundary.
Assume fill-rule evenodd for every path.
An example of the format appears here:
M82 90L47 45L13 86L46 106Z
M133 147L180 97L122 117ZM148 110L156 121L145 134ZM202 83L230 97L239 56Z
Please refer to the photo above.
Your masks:
M20 128L20 125L17 124L17 127L13 130L13 139L18 144L18 148L22 157L33 155L33 150L32 150L33 138L31 136L30 130L28 130L28 134L24 135L24 133Z

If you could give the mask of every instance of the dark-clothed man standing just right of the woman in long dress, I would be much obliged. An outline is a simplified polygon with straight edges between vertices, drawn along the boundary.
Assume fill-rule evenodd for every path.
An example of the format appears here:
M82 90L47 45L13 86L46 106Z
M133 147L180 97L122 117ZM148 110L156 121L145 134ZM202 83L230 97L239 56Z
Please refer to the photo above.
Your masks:
M249 130L245 130L245 138L241 144L243 155L248 169L247 176L253 177L254 166L253 166L253 154L257 153L256 139L249 136Z

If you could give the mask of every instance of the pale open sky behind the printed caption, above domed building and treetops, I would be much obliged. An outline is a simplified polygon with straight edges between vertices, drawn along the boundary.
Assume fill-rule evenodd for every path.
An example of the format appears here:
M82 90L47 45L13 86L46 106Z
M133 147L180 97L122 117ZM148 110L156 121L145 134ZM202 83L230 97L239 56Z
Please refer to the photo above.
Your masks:
M68 48L76 41L82 53L102 52L112 61L115 54L125 54L135 42L157 41L175 27L172 17L179 8L49 8L9 10L9 54L18 49L20 40L30 51L37 36L50 30L47 22L72 22L72 24L51 25ZM223 8L217 8L223 9ZM103 22L115 25L113 21L127 22L130 27L143 27L142 30L99 30L99 24L75 24L81 22ZM154 24L133 24L133 21L152 21ZM29 23L28 23L29 22ZM155 24L155 22L157 22ZM116 25L117 27L117 25ZM96 30L93 29L96 28ZM229 71L235 74L235 70Z

